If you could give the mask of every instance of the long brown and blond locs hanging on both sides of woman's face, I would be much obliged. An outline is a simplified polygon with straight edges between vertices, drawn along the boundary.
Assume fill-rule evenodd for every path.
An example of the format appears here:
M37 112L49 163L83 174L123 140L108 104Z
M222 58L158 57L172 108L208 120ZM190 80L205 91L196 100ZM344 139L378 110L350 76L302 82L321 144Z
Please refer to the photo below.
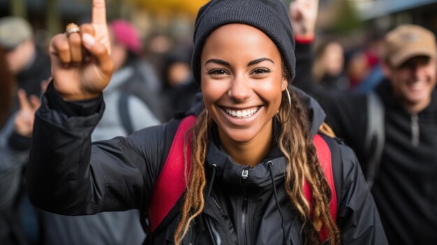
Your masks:
M329 211L331 191L325 174L318 163L316 148L309 131L306 107L294 91L290 91L290 104L286 96L286 91L284 91L278 113L281 121L285 122L279 124L281 133L278 142L279 148L288 162L285 172L286 193L302 220L304 244L320 244L318 232L323 226L327 229L329 244L340 244L340 232ZM290 117L288 117L288 113L291 113ZM204 163L209 140L208 125L211 125L207 120L207 113L204 110L190 131L193 134L191 163L189 163L191 164L191 172L184 196L182 218L175 232L176 244L182 243L191 222L202 213L205 207L203 193L207 180ZM304 196L304 180L313 191L312 215L310 214L309 202Z

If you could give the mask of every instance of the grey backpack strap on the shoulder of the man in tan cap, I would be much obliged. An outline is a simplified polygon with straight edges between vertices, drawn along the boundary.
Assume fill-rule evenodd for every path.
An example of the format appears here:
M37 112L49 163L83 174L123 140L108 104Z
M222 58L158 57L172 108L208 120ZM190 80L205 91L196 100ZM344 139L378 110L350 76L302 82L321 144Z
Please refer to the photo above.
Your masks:
M375 92L366 95L367 100L367 128L364 149L369 158L366 164L366 182L369 188L378 176L380 158L385 144L385 111L383 103Z

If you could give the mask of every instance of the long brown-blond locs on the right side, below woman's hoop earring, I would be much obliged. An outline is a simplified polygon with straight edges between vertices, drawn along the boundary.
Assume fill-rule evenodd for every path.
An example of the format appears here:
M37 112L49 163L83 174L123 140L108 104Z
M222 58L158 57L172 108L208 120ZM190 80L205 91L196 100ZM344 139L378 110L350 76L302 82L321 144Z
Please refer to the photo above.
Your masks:
M281 124L279 135L279 147L288 160L286 193L302 218L305 244L320 244L318 232L323 225L328 232L329 244L340 244L339 229L329 211L331 191L318 163L316 147L308 128L306 108L294 91L290 91L290 98L291 107L286 105L287 100L283 99L279 111L281 115L286 113L283 111L289 110L292 115L286 123ZM310 205L304 197L304 180L313 191L312 217Z

